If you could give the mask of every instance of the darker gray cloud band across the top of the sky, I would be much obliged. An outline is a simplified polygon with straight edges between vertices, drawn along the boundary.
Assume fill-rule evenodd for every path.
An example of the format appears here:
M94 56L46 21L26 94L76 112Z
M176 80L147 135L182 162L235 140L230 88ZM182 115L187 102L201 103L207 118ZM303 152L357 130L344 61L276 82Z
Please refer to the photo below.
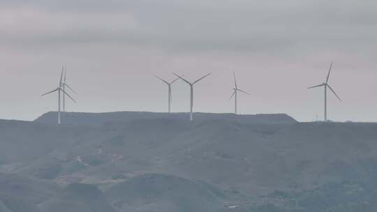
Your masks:
M3 9L13 27L3 21L1 32L3 43L38 45L251 52L307 50L321 43L352 48L376 39L373 6L375 1L20 1Z

